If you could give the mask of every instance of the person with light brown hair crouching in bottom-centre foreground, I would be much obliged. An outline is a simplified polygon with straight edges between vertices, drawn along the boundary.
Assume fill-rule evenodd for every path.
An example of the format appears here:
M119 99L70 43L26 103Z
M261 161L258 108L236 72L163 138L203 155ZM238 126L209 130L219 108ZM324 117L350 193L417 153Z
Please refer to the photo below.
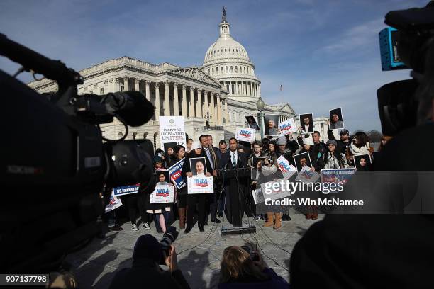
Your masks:
M218 289L289 288L289 284L268 268L262 255L249 246L228 246L220 263Z

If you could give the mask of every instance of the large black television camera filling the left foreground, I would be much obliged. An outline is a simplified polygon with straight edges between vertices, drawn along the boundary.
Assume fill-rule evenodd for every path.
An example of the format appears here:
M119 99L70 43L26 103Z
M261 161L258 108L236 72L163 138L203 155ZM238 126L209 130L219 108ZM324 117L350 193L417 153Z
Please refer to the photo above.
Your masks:
M47 273L62 256L101 232L109 187L143 183L152 174L152 143L124 140L128 125L143 125L154 106L138 91L77 94L84 78L0 34L0 55L18 72L42 74L57 92L38 94L0 70L4 137L0 158L0 272ZM100 124L123 123L121 140L107 140Z

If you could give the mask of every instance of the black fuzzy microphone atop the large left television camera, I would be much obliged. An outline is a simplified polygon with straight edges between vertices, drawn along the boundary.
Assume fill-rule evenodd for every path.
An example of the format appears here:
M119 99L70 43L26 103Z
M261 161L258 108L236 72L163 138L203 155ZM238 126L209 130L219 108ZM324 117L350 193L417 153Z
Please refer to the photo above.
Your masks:
M102 103L109 113L119 116L130 126L148 123L155 113L155 107L139 91L107 94L102 99Z

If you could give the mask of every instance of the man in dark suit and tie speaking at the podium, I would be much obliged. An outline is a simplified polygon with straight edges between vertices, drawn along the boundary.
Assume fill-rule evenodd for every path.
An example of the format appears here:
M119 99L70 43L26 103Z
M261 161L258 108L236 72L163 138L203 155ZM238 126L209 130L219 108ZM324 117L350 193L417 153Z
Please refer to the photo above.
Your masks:
M246 177L250 176L247 166L247 154L237 151L238 141L235 137L229 140L229 151L221 155L218 169L221 171L223 186L226 183L225 214L234 227L243 225L242 219L245 208Z

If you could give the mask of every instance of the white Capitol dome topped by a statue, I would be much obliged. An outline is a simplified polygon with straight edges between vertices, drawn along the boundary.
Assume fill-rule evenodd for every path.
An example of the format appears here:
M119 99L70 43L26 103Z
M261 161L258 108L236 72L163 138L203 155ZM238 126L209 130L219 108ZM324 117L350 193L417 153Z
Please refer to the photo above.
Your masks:
M230 35L230 24L223 9L218 25L220 37L206 51L202 68L216 79L229 97L238 101L257 101L260 96L259 78L255 77L255 65L247 50Z

